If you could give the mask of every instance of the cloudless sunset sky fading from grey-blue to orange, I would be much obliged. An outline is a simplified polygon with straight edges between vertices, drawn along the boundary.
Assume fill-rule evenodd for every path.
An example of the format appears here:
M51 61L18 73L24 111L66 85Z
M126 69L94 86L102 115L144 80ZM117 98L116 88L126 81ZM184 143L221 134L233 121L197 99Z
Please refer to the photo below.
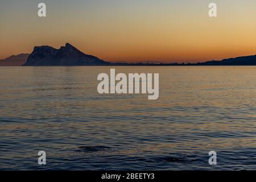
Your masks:
M210 2L217 18L208 16ZM66 42L107 61L255 55L255 22L255 0L0 0L0 59Z

